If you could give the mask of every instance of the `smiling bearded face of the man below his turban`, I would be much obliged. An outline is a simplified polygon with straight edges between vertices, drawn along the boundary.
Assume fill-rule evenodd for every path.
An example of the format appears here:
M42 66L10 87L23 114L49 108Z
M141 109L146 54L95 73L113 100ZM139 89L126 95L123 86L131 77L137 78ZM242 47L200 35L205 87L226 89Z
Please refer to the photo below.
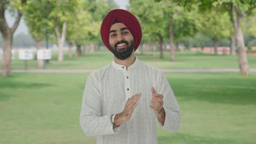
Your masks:
M131 56L134 48L131 32L123 23L114 23L109 32L109 47L115 57L124 60Z

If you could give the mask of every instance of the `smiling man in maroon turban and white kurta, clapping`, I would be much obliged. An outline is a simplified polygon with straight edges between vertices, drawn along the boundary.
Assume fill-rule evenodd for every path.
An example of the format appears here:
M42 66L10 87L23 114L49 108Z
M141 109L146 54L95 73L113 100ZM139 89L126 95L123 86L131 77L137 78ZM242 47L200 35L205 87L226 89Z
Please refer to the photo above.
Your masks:
M158 143L161 128L177 131L179 106L160 70L135 57L141 26L129 11L110 11L101 38L114 54L111 64L91 73L85 85L80 125L97 143Z

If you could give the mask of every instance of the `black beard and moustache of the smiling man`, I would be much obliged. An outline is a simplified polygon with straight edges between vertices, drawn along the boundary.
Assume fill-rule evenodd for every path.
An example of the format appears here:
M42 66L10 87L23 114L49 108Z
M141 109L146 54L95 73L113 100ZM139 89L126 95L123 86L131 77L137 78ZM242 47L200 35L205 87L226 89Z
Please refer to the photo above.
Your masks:
M115 55L115 57L117 57L118 59L121 59L121 60L124 60L128 57L131 56L131 53L134 49L134 40L131 41L131 45L130 46L127 46L126 48L124 48L124 50L121 50L121 51L117 51L117 45L120 44L120 43L125 43L126 45L129 45L129 43L127 41L120 41L118 42L117 44L115 44L115 47L112 47L109 45L112 53Z

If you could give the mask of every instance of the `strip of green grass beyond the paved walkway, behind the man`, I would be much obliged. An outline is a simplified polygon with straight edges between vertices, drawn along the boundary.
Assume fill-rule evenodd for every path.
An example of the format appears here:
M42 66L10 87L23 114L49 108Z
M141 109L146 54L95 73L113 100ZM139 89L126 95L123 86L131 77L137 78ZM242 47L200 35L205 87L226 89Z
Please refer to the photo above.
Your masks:
M150 53L149 53L150 54ZM151 53L152 54L152 53ZM238 68L236 56L215 56L205 55L196 52L176 52L176 60L170 61L170 52L165 52L164 58L156 56L141 55L136 52L136 56L142 62L148 63L160 69L218 69L218 68ZM18 56L16 56L18 57ZM57 61L57 52L53 52L53 59L46 64L46 69L99 69L109 64L113 59L113 54L107 50L89 52L87 56L74 57L69 59L65 51L65 61ZM35 60L28 61L28 69L37 69ZM255 56L248 56L250 68L256 68ZM17 58L11 63L11 69L24 69L24 61Z

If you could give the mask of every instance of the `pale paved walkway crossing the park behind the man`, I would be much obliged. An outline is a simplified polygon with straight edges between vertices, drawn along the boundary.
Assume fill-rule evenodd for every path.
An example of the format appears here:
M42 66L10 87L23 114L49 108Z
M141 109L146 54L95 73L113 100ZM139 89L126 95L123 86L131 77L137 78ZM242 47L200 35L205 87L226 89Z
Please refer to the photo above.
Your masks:
M161 69L164 73L218 73L218 72L239 72L239 69ZM11 70L12 73L91 73L94 69L29 69ZM2 70L0 70L2 73ZM256 69L250 69L256 72Z

